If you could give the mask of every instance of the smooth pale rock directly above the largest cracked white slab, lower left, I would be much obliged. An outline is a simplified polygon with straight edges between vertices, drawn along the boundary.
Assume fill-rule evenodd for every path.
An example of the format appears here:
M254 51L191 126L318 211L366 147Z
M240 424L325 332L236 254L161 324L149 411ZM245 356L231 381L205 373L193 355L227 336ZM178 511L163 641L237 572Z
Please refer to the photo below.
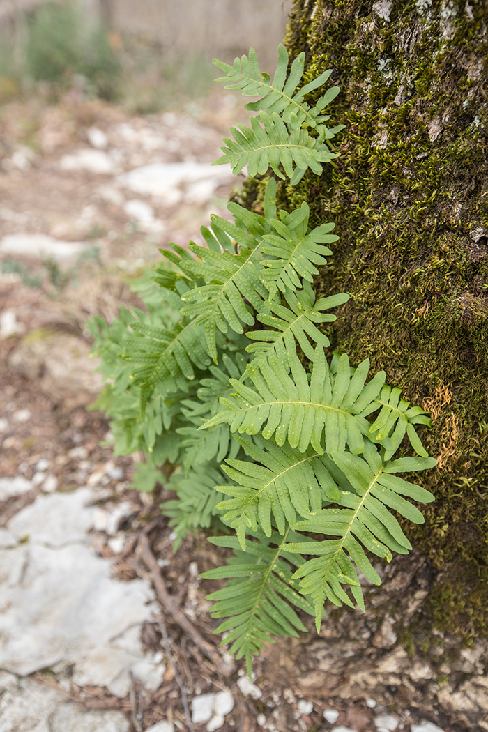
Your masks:
M94 516L94 508L86 503L93 499L89 488L38 496L34 503L15 514L7 529L16 539L28 536L34 544L52 547L86 542L86 531L91 529Z

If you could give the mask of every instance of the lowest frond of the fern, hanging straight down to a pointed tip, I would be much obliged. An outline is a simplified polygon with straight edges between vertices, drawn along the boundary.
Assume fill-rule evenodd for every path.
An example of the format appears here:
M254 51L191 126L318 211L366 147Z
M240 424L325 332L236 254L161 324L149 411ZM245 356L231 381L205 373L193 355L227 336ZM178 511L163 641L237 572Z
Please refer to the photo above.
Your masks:
M239 551L236 537L210 537L220 547L232 548L236 557L227 567L217 567L201 575L204 579L230 578L228 586L207 595L215 602L211 609L214 618L227 618L214 632L228 632L221 645L231 643L230 653L236 659L245 657L251 674L252 655L259 653L264 643L274 643L271 635L298 637L298 630L306 631L295 608L312 614L312 605L296 591L291 578L293 565L301 558L283 550L287 539L295 538L288 529L285 536L275 531L271 542L248 542L245 553ZM269 542L269 543L271 543Z

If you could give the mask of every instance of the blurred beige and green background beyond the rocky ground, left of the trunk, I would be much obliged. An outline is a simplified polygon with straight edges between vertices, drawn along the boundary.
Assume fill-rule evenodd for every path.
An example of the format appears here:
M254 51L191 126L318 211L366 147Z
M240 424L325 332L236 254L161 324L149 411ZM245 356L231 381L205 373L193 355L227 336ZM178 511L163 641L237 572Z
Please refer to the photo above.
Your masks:
M271 72L291 0L0 0L0 102L75 88L150 113L201 97L211 59Z

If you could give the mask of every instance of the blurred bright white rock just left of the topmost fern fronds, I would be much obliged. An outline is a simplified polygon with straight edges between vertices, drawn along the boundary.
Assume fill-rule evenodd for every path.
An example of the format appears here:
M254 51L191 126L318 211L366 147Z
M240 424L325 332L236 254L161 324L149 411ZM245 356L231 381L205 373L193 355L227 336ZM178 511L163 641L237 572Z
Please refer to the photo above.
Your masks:
M228 182L230 178L228 166L219 165L217 168L209 163L189 162L152 163L119 176L117 182L134 193L154 195L161 198L165 205L173 206L174 203L181 201L182 192L179 190L181 186L211 181L214 190L219 184ZM207 190L205 197L208 196Z

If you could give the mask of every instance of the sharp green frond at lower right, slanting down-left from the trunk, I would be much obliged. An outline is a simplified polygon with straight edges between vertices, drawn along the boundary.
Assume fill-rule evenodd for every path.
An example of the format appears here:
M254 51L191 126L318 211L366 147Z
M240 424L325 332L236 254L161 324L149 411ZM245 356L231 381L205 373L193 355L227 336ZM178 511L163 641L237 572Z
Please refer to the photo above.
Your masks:
M421 512L402 496L421 502L434 500L432 493L424 488L392 475L398 471L428 470L435 466L434 458L403 458L385 463L371 443L364 450L364 458L347 452L333 452L331 460L326 459L326 463L339 483L341 490L337 503L341 507L322 509L293 526L297 531L339 538L286 545L292 553L315 556L315 559L305 562L293 577L301 578L300 591L312 597L318 630L325 600L331 600L334 605L351 604L343 585L350 586L353 597L364 610L354 565L372 583L380 584L380 577L364 549L388 561L392 551L406 554L411 549L389 509L415 523L423 523Z

